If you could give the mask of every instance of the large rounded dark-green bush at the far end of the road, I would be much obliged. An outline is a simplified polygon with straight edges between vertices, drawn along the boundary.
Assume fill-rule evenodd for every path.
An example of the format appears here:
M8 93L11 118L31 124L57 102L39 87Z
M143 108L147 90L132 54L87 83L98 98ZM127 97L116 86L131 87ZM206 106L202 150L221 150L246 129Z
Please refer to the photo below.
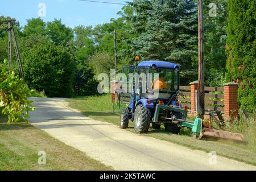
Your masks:
M63 46L51 42L36 44L23 53L24 73L30 89L47 97L71 97L75 61Z

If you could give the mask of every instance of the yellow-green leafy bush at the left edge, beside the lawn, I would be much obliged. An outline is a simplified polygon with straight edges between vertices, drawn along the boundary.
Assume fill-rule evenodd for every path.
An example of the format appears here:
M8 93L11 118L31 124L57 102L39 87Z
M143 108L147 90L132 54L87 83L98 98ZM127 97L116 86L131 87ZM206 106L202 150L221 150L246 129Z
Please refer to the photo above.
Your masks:
M5 61L6 63L6 61ZM13 71L1 66L0 72L0 108L2 114L9 116L8 123L27 122L28 112L34 110L32 101L27 100L30 90L27 84Z

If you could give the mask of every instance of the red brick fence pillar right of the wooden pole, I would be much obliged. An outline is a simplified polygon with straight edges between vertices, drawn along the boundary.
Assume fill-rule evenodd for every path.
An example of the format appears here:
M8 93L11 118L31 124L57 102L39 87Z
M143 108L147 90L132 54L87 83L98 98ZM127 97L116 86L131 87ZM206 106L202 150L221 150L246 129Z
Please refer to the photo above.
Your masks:
M238 117L237 90L238 84L235 82L224 84L225 118Z

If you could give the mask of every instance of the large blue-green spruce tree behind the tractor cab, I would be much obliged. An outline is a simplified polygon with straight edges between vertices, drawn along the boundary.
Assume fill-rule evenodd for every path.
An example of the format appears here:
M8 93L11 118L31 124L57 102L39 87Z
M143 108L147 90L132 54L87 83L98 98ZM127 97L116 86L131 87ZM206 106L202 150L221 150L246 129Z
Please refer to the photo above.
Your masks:
M137 53L145 59L179 63L191 68L196 54L197 19L195 3L189 0L152 0L148 10L146 32L134 41Z

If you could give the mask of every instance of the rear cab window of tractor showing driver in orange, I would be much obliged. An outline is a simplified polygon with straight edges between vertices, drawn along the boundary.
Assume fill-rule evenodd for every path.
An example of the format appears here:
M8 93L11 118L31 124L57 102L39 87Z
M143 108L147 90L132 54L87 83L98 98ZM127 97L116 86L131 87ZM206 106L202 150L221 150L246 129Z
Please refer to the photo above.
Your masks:
M152 89L162 92L176 92L179 90L179 71L168 68L152 68ZM159 78L156 78L159 74Z

